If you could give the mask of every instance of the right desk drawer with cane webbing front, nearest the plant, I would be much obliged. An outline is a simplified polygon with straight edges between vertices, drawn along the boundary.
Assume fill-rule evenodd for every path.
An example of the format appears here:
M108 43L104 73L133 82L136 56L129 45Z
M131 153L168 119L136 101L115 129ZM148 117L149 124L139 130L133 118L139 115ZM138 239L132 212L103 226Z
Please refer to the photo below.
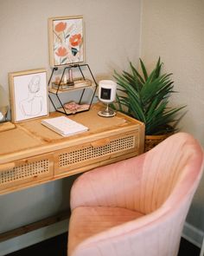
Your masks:
M92 163L113 159L119 155L138 154L138 132L111 136L63 149L54 156L54 174L61 174Z

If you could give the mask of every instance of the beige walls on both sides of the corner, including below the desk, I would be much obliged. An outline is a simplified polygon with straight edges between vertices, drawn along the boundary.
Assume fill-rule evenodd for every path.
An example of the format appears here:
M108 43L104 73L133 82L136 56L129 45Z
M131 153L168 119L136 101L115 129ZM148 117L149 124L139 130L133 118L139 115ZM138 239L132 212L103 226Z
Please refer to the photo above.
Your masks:
M182 130L192 133L204 145L204 3L143 0L141 30L140 2L1 0L0 84L8 93L9 72L44 67L49 73L48 17L83 15L86 62L97 80L112 77L113 69L127 68L127 59L137 62L140 49L149 67L161 56L164 69L173 72L175 89L179 91L172 104L188 105ZM73 179L0 196L0 233L67 208ZM201 230L204 230L203 182L188 213L188 223ZM47 236L44 233L42 238L43 235ZM18 243L21 247L22 241Z

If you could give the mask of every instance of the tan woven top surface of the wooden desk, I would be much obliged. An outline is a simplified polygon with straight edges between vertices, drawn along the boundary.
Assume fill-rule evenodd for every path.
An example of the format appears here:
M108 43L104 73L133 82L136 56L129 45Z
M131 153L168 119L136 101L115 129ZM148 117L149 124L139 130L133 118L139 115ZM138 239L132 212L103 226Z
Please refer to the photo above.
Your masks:
M16 128L0 133L0 164L67 148L67 145L72 147L90 141L92 138L97 140L103 137L103 134L105 137L117 135L121 128L125 128L125 132L128 132L129 128L131 130L132 126L140 123L121 113L112 118L100 117L97 115L99 108L99 105L93 105L90 111L68 115L68 118L79 121L89 128L88 131L79 135L68 137L58 135L41 125L41 119L45 117L17 123ZM48 118L60 115L54 112Z

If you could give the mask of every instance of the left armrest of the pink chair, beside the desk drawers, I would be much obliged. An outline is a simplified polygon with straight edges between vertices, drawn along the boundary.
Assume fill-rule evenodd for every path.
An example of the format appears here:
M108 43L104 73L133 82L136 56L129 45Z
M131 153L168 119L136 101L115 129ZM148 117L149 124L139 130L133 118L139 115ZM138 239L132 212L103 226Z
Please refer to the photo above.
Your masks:
M82 206L133 209L133 191L139 186L144 155L82 174L73 183L71 209Z

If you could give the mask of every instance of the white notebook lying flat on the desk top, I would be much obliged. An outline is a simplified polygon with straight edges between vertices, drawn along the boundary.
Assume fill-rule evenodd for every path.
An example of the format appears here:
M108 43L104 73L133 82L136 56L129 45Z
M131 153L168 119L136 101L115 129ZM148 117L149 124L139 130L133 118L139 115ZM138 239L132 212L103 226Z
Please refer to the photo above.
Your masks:
M66 116L43 119L41 124L62 136L76 135L88 130L83 124L73 121Z

